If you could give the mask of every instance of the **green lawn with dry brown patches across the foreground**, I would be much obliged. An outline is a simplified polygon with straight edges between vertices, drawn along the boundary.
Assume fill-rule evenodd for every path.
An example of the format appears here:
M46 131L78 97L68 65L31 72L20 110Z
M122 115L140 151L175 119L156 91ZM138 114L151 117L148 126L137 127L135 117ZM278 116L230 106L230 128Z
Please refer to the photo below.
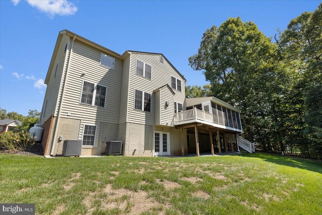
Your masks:
M322 163L295 157L0 154L0 168L0 202L36 214L322 214Z

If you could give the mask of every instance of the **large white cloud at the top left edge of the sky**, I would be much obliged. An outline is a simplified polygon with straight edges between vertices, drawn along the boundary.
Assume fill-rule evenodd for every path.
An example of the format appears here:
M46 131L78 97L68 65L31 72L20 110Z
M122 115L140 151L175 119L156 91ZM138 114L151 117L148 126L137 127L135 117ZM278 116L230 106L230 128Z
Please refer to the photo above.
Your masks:
M55 15L73 15L78 10L74 4L67 2L67 0L27 0L27 2L30 6L46 13L51 18Z

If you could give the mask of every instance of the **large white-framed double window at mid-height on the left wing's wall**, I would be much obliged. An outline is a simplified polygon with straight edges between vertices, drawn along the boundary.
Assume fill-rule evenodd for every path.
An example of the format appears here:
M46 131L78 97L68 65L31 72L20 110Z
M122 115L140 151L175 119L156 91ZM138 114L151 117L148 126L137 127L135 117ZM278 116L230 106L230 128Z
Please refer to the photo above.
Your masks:
M105 107L106 89L107 88L102 85L97 85L84 81L81 96L81 104ZM93 99L94 95L95 99Z

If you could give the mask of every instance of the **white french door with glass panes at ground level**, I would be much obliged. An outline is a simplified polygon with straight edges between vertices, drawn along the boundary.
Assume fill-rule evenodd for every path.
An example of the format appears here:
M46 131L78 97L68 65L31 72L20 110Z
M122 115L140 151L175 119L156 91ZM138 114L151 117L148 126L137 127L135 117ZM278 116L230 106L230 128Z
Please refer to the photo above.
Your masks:
M170 133L169 132L154 132L154 155L170 155Z

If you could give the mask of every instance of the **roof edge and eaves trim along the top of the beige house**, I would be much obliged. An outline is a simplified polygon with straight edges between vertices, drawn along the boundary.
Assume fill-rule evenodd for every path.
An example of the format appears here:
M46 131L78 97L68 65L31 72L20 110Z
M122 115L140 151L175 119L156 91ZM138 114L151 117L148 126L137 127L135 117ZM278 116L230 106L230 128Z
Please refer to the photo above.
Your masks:
M125 59L130 53L145 53L145 54L157 54L157 55L162 55L169 63L170 65L178 72L178 74L185 80L185 82L187 81L184 76L172 65L172 63L167 59L167 57L165 57L165 55L163 54L160 54L160 53L151 53L151 52L140 52L140 51L130 51L130 50L126 50L123 54L119 54L119 53L116 53L115 51L112 51L108 48L105 48L95 42L92 42L91 40L88 40L82 36L79 36L71 31L68 31L68 30L62 30L59 32L58 34L58 37L57 37L57 40L56 40L56 44L55 44L55 48L54 48L54 52L52 54L52 57L51 57L51 60L50 60L50 64L49 64L49 67L48 67L48 71L47 71L47 76L46 76L46 79L45 79L45 84L48 84L49 82L49 78L50 78L50 75L51 75L51 71L52 71L52 68L54 66L54 62L55 62L55 59L56 59L56 55L58 54L58 49L59 49L59 45L60 45L60 42L61 42L61 39L63 37L63 35L67 35L67 36L70 36L78 41L82 41L83 43L87 44L87 45L90 45L92 47L95 47L95 48L98 48L100 49L102 52L104 53L107 53L107 54L110 54L114 57L117 57L117 58L120 58L120 59Z

